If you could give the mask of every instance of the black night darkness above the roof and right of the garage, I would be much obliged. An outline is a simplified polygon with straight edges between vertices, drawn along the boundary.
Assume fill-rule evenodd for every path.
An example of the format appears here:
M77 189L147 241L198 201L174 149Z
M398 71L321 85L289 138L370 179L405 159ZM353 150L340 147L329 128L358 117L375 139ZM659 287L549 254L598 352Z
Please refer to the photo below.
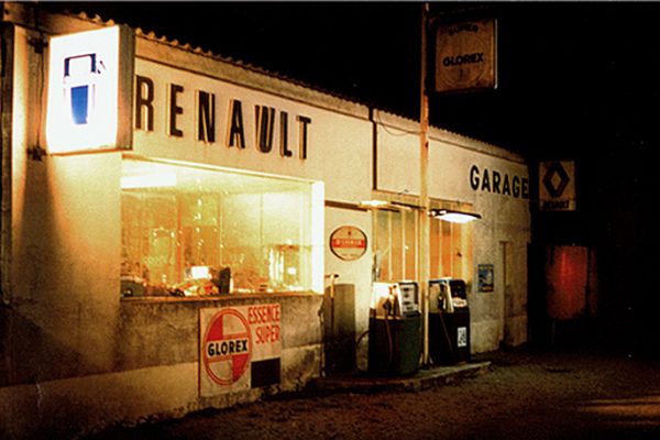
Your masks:
M421 7L41 3L153 31L411 119L419 117ZM657 164L651 157L660 141L660 3L432 2L430 15L497 19L498 87L432 97L430 118L436 127L528 160L532 339L548 341L543 249L579 244L597 256L600 310L568 327L564 342L660 354L660 294L652 283ZM538 211L535 184L542 160L575 161L576 211Z

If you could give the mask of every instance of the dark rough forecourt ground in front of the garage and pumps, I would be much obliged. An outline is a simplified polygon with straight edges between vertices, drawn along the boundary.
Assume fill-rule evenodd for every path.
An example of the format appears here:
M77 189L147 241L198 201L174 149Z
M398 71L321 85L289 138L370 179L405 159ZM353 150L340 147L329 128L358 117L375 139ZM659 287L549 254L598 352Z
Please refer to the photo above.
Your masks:
M300 395L109 439L660 439L660 361L496 352L491 371L413 393Z

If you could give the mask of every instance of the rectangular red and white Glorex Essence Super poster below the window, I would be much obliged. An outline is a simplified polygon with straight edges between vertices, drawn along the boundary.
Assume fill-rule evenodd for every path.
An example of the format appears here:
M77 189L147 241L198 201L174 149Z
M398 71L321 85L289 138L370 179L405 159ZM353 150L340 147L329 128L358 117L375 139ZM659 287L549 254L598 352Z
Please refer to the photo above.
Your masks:
M200 396L279 383L279 304L201 309L199 341Z

